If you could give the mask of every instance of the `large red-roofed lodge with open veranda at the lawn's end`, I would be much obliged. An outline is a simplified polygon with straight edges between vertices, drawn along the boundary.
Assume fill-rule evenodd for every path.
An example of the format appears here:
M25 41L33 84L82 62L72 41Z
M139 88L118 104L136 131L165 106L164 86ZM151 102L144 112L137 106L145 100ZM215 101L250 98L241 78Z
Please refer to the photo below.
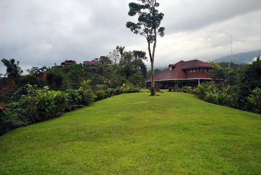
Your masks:
M179 61L176 64L168 65L168 68L155 75L154 81L159 85L176 86L180 85L196 86L204 81L211 81L206 72L212 72L212 65L200 60ZM151 78L146 82L151 82ZM180 83L178 83L180 82ZM149 85L151 85L149 83Z

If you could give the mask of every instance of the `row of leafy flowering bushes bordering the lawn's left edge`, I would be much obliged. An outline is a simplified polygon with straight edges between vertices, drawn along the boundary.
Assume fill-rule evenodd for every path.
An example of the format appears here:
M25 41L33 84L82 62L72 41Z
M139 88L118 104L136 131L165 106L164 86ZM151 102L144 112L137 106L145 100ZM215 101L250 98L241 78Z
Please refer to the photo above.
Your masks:
M4 134L17 127L50 120L81 107L93 104L94 101L106 99L122 93L139 92L133 86L107 88L93 91L88 81L83 81L79 90L54 91L48 86L40 89L37 85L27 85L23 88L26 95L22 95L17 102L0 106L0 134ZM3 106L3 105L2 105ZM9 116L6 119L6 116Z

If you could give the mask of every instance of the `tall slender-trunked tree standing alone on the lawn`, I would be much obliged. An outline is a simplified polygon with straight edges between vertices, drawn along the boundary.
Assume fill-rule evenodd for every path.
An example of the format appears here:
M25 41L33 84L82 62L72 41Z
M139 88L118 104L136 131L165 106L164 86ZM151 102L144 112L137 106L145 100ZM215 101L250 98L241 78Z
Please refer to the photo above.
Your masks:
M135 34L140 34L146 37L148 43L148 52L151 61L151 86L154 89L154 58L155 58L155 48L157 43L157 34L160 37L163 37L164 27L160 27L160 23L164 17L163 13L159 13L156 9L160 6L156 0L138 0L141 1L142 4L139 3L129 3L129 12L128 15L133 17L138 15L138 23L127 22L126 27L129 28ZM157 30L158 29L158 30ZM153 43L153 50L151 53L151 43ZM151 96L154 96L154 90L151 92Z

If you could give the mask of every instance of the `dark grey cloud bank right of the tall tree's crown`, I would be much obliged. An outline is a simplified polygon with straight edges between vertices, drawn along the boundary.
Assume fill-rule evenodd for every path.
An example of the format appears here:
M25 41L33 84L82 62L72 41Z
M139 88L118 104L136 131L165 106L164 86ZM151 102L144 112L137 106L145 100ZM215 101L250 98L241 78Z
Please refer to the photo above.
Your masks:
M165 14L162 25L166 26L166 32L195 30L261 9L260 0L163 1L161 5L167 7L162 9Z

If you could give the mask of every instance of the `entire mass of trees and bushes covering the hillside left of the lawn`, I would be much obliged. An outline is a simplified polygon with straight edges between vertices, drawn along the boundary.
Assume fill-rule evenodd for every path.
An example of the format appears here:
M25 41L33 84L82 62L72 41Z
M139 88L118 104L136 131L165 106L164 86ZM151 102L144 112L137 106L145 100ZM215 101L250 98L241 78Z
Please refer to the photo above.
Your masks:
M21 76L19 61L2 59L7 68L0 79L0 134L17 127L61 116L94 101L128 92L139 92L148 72L142 51L125 51L117 46L108 56L97 61L102 64L84 67L32 67L29 75Z

